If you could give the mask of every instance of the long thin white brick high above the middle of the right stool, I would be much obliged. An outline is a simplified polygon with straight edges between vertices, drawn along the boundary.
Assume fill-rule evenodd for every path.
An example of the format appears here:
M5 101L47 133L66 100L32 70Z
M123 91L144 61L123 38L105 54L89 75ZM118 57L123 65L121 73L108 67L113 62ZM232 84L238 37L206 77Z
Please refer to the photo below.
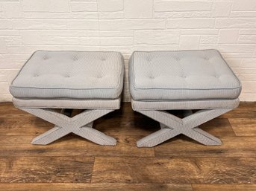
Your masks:
M214 19L169 19L167 28L210 28Z

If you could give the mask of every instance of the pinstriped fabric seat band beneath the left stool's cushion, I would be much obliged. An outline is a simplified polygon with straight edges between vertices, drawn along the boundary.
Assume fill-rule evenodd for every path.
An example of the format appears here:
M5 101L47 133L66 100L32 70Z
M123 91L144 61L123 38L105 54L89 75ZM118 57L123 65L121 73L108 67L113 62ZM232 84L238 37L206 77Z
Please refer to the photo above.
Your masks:
M119 109L120 100L25 100L13 97L13 105L18 108Z

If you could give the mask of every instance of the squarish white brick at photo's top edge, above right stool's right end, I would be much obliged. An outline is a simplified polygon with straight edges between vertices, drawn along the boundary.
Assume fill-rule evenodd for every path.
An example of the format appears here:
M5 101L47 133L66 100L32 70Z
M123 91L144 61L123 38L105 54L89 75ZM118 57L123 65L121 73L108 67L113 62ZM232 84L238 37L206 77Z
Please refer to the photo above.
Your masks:
M229 16L231 12L231 1L216 1L213 3L212 16Z

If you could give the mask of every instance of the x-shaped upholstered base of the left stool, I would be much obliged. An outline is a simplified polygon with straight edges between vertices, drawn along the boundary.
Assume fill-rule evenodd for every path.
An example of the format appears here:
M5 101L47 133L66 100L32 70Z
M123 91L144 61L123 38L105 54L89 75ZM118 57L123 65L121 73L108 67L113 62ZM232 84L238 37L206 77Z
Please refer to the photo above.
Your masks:
M20 109L55 125L53 129L35 137L32 144L46 145L69 133L74 133L99 145L116 145L115 138L93 129L93 121L113 111L111 109L88 109L74 117L66 116L66 114L51 109Z

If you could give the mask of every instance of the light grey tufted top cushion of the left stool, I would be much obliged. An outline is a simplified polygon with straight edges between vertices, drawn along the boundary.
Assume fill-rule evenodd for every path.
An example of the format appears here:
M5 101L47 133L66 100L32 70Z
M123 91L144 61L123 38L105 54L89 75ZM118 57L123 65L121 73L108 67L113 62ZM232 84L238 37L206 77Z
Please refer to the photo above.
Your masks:
M117 52L37 51L10 85L19 98L116 99L123 60Z

